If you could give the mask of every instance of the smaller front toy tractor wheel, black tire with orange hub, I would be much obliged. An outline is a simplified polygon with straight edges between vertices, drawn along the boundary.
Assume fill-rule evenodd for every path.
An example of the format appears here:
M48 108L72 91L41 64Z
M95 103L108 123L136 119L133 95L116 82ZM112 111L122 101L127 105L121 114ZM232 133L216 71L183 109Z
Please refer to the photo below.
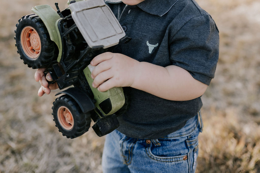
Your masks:
M67 138L86 133L90 127L90 113L83 114L79 105L68 95L62 95L53 102L53 120L59 132Z

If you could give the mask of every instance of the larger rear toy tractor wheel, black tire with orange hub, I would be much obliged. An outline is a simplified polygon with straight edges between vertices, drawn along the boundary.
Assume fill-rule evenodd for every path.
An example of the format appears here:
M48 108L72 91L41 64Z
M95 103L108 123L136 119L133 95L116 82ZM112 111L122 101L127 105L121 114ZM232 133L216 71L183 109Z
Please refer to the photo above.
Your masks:
M58 47L50 40L50 35L41 18L35 14L18 20L15 30L17 53L28 67L47 67L58 57Z

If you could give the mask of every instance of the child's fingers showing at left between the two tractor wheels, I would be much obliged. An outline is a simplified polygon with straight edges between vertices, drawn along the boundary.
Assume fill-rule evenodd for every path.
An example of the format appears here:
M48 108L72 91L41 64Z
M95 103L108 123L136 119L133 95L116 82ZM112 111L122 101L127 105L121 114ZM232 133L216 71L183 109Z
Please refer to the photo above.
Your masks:
M43 96L44 93L50 94L50 90L52 90L52 89L59 88L57 82L55 82L54 84L48 84L48 81L52 81L52 78L50 76L50 73L48 73L45 77L45 75L43 73L45 70L46 70L46 68L39 68L39 69L37 69L37 71L35 72L35 75L34 75L36 82L39 81L41 84L41 88L38 91L38 96L40 96L40 97Z

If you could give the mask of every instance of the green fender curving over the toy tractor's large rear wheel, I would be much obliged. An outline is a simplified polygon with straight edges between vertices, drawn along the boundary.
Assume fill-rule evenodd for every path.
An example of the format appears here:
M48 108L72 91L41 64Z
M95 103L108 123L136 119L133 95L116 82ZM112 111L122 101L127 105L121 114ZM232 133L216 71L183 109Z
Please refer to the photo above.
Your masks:
M44 25L46 26L48 33L50 35L50 39L54 41L54 43L59 48L59 56L58 59L61 58L62 55L62 42L61 36L58 29L58 22L62 18L58 15L58 13L51 8L50 5L36 5L32 8L32 10L36 15L38 15Z

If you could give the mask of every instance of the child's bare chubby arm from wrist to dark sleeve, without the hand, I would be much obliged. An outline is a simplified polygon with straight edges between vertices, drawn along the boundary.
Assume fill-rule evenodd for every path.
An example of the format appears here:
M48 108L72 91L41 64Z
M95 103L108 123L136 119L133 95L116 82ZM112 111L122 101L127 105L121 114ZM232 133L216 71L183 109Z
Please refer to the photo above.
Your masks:
M207 89L206 84L181 67L161 67L146 62L140 62L139 74L131 87L175 101L195 99Z

